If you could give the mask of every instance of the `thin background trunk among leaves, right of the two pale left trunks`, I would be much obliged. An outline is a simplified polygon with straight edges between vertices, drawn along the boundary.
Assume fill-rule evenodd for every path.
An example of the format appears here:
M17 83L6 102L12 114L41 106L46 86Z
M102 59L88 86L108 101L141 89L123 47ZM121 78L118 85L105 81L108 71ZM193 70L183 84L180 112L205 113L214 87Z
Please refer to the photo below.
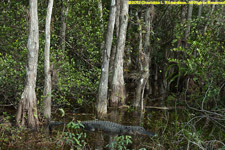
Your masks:
M62 0L62 12L61 12L61 31L60 31L60 45L62 47L62 52L65 52L66 48L66 18L69 11L69 0Z

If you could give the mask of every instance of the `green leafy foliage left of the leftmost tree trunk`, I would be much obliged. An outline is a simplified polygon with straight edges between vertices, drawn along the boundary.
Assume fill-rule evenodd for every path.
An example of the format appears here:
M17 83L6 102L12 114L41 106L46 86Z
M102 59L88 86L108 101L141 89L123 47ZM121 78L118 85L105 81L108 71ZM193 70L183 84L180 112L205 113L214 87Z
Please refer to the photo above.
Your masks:
M0 96L16 104L25 81L27 57L26 4L2 2L0 6Z

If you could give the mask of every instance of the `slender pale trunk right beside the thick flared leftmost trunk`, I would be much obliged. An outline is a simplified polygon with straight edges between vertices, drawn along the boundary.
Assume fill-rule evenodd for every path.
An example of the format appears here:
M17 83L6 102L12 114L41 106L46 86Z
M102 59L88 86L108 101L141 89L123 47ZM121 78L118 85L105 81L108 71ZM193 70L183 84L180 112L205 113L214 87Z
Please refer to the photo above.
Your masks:
M44 84L44 116L47 121L51 119L51 71L50 71L50 25L52 16L53 0L49 0L46 25L45 25L45 51L44 51L44 72L45 72L45 84Z

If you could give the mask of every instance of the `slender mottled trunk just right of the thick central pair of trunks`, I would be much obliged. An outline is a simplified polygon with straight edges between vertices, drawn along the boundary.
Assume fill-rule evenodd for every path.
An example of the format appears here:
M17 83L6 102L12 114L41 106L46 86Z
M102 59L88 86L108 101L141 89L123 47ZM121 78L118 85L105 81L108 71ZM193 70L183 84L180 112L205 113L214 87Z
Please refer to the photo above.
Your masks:
M140 45L139 45L139 64L141 77L138 80L138 85L136 89L136 97L134 101L134 107L141 107L144 110L144 91L149 78L149 63L150 63L150 29L151 29L151 15L153 12L154 5L151 5L145 14L145 41L144 49L142 48L142 27L140 28Z

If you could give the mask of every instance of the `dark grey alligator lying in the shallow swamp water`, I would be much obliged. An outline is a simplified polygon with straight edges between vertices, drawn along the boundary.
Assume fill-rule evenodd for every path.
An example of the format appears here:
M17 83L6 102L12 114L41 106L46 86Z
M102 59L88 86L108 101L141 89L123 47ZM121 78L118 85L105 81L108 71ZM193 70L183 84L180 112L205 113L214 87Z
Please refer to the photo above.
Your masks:
M90 120L90 121L81 121L84 130L87 131L102 131L111 135L147 135L149 137L154 136L155 134L145 130L141 126L126 126L110 121L101 121L101 120ZM51 122L50 128L53 126L64 124L62 122Z

